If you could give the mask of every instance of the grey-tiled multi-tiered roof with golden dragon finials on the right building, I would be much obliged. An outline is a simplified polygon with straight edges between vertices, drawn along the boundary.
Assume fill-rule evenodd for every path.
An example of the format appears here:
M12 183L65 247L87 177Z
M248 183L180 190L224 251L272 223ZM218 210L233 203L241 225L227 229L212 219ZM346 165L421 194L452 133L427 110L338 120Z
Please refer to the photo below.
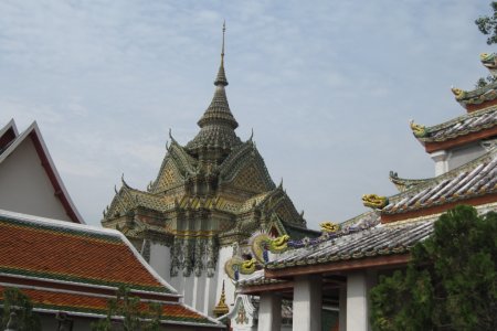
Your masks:
M490 66L497 68L495 54ZM468 113L429 128L411 122L413 134L429 152L479 141L487 150L483 156L431 179L401 179L391 172L390 180L399 194L364 195L364 204L372 206L371 212L342 223L338 232L289 241L288 246L294 249L266 264L264 273L239 281L241 291L278 290L292 286L281 279L298 275L336 276L355 269L405 265L411 247L432 234L433 224L443 212L457 204L473 205L479 213L495 211L497 83L474 92L454 93Z

